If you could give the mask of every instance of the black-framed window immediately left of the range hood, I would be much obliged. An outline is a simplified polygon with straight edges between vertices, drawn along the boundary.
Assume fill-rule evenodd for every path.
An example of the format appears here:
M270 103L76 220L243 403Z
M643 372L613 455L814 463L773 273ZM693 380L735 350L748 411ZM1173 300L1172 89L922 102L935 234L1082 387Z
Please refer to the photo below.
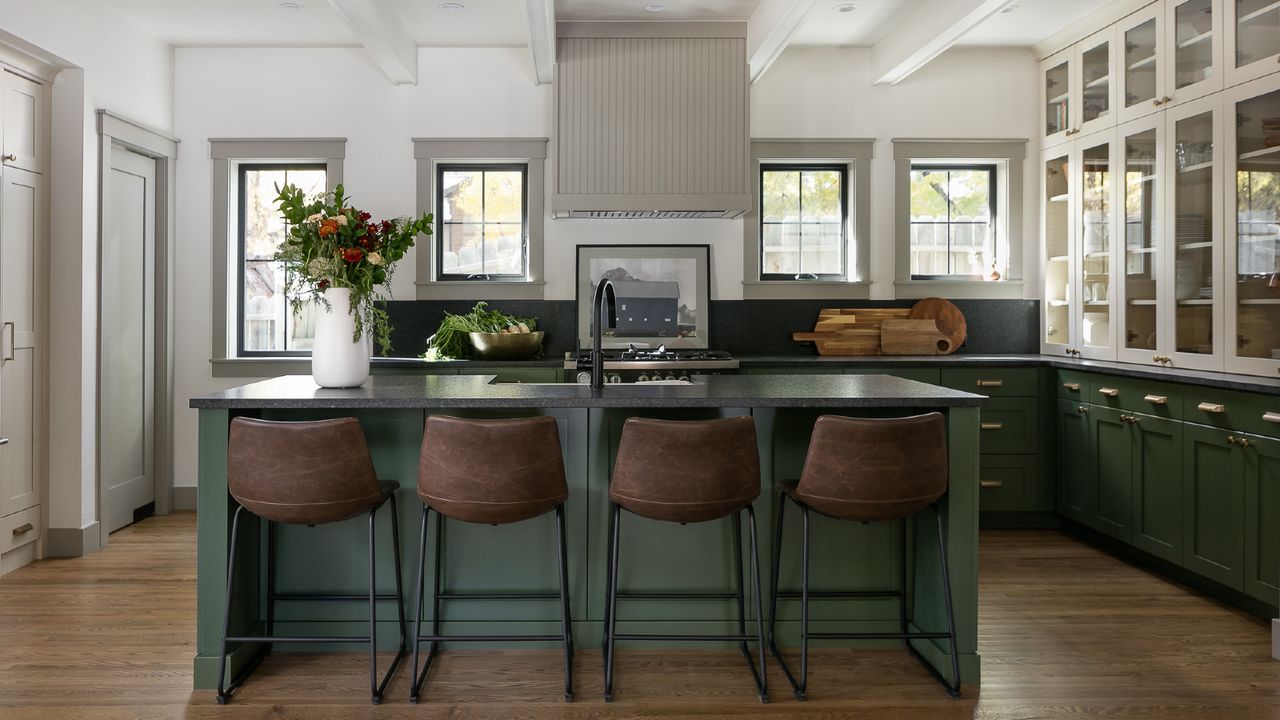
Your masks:
M439 279L525 279L529 165L436 167Z

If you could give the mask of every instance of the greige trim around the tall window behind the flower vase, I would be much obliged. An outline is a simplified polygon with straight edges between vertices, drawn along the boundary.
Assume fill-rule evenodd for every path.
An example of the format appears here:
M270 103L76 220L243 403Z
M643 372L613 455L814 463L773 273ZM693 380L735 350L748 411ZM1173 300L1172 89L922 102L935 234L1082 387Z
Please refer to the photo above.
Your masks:
M262 363L270 357L239 357L236 346L236 309L230 302L238 297L233 272L236 254L232 243L237 242L233 231L238 227L237 187L239 165L242 163L324 163L325 184L334 190L342 182L342 165L347 155L344 137L269 137L269 138L209 138L210 158L214 165L212 197L212 363L214 374L221 375L219 365L234 363ZM283 356L282 356L283 357ZM291 357L292 360L302 360Z

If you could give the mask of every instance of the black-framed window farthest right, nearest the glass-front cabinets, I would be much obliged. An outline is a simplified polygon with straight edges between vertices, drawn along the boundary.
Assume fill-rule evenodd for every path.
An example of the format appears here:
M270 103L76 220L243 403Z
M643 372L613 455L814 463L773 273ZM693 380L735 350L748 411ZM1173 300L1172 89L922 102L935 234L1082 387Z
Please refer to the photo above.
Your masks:
M982 279L997 265L995 164L911 164L913 279Z

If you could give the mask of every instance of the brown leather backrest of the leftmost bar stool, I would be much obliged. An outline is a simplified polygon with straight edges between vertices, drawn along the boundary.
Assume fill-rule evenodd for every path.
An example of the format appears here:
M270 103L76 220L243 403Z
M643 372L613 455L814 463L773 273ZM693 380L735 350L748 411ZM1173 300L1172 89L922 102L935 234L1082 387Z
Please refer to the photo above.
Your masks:
M347 520L385 500L355 418L232 419L227 487L250 512L302 525Z

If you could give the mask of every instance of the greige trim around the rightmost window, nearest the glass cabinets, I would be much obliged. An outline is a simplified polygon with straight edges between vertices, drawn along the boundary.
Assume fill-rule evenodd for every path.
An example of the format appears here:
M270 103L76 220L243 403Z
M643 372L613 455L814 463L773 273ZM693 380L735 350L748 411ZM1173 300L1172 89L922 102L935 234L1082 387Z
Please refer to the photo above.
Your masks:
M1023 251L1027 242L1023 233L1025 160L1027 138L893 138L895 297L1023 297ZM1005 238L1000 281L911 279L911 164L914 163L996 165L996 192L998 193L996 222ZM1000 236L997 234L997 237Z

